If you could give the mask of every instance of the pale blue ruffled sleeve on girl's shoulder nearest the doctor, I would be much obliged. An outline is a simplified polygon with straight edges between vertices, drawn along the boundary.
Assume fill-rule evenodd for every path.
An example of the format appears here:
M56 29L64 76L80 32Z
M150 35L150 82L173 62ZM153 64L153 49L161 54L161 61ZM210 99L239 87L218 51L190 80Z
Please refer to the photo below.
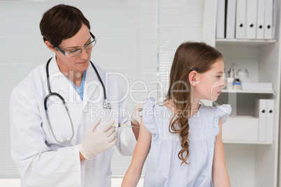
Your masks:
M155 100L154 98L147 98L145 104L143 105L143 124L145 128L150 131L153 135L158 136L157 125L155 122Z

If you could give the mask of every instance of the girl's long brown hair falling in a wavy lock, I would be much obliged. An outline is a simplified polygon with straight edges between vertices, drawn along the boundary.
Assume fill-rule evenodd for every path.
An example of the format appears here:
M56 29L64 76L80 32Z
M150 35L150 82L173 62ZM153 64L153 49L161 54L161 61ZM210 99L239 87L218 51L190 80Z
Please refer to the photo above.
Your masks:
M170 74L170 84L166 100L171 100L177 112L171 118L169 131L180 135L182 150L178 158L182 163L187 163L189 157L189 124L188 118L192 110L192 85L189 82L189 73L192 68L198 68L199 73L210 70L213 63L224 58L214 47L206 43L187 42L182 43L173 59ZM189 67L186 69L185 67Z

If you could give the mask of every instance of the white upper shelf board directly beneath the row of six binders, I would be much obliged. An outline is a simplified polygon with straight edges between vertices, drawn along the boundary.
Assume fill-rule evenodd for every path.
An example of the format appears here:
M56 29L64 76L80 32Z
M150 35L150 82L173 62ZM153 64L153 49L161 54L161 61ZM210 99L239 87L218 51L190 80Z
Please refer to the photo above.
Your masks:
M238 40L238 39L216 39L216 45L232 46L262 46L277 43L277 40Z

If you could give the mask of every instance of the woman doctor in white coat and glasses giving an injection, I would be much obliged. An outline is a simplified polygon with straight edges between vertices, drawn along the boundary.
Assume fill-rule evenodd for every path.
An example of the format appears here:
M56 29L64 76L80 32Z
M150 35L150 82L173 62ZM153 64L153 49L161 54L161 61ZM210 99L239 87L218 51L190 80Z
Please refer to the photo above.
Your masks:
M133 154L140 116L125 110L117 77L90 62L96 43L78 8L57 5L40 23L54 56L10 96L11 155L22 186L111 186L114 145ZM64 105L65 103L65 105Z

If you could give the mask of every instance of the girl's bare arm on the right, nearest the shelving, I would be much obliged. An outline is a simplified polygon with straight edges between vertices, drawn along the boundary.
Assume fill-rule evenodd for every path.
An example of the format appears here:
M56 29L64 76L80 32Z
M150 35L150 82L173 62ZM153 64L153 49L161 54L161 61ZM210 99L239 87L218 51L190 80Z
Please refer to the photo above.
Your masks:
M212 163L212 181L215 187L230 186L229 174L226 170L224 144L222 143L222 119L219 118L219 134L215 140L215 154Z

